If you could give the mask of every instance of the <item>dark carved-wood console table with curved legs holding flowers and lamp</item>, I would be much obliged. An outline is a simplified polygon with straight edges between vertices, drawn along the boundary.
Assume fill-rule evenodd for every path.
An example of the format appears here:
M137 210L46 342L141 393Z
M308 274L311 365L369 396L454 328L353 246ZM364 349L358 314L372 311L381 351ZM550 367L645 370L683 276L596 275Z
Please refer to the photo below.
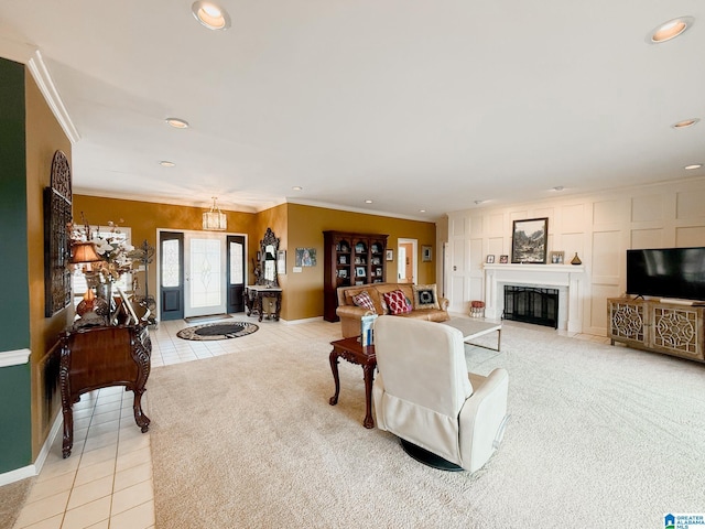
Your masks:
M88 391L124 386L134 393L134 422L142 433L150 420L142 412L142 393L150 376L152 342L148 325L106 325L70 330L61 335L59 385L64 414L63 456L74 446L73 404Z

